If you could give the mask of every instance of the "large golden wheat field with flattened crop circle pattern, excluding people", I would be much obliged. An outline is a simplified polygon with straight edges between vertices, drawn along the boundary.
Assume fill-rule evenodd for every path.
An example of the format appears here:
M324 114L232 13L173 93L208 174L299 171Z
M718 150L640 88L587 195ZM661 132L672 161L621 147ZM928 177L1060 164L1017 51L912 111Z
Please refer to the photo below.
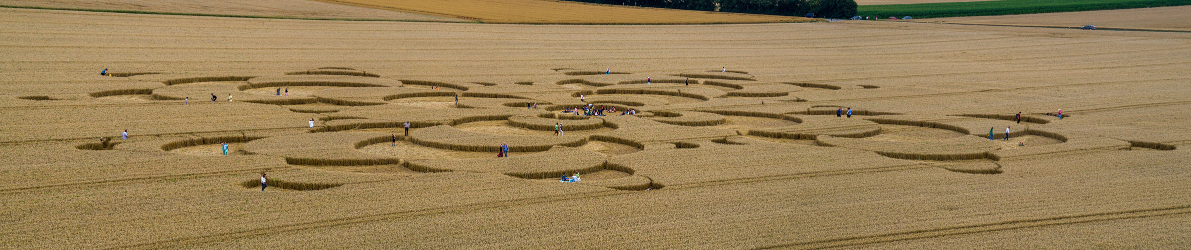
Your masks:
M1191 240L1189 33L0 13L4 249Z

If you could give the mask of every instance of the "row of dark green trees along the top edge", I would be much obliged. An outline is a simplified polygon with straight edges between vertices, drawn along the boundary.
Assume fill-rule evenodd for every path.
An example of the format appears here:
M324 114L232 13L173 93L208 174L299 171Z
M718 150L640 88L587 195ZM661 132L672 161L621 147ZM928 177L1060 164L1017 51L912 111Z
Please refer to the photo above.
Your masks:
M691 11L735 12L817 18L850 18L856 15L855 0L568 0L604 5L624 5Z

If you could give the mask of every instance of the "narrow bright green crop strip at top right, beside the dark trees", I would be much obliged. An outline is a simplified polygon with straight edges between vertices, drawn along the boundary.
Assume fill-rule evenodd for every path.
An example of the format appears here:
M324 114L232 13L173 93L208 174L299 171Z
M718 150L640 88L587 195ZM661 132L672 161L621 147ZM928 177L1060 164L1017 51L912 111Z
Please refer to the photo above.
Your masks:
M859 15L946 18L973 15L1034 14L1191 5L1191 0L1000 0L911 5L861 5Z

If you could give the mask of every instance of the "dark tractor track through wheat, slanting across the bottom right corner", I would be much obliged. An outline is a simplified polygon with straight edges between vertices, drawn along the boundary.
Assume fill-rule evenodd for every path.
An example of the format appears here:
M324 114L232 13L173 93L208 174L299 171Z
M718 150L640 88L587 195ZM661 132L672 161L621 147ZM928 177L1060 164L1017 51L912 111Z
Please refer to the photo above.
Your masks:
M1159 208L1143 208L1118 212L1085 213L1074 215L1056 215L1037 219L1006 220L1000 223L975 224L942 229L913 230L906 232L883 233L872 236L844 237L824 240L812 240L793 244L761 246L757 249L830 249L878 243L902 242L912 239L936 238L946 236L971 235L980 232L1005 231L1015 229L1058 226L1081 223L1136 219L1148 217L1174 215L1191 213L1191 205L1179 205Z

